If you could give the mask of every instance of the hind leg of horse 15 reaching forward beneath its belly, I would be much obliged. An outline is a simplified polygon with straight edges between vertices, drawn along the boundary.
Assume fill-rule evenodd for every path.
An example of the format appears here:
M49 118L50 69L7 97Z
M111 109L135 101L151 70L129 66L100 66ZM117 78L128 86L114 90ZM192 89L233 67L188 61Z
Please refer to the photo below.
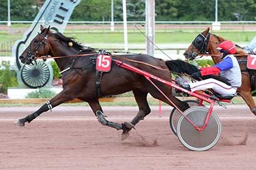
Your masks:
M139 90L134 90L132 92L134 93L135 100L139 106L139 112L130 123L124 123L122 140L126 139L129 136L129 131L134 128L140 120L144 120L144 117L150 113L149 103L147 103L147 93L140 92Z

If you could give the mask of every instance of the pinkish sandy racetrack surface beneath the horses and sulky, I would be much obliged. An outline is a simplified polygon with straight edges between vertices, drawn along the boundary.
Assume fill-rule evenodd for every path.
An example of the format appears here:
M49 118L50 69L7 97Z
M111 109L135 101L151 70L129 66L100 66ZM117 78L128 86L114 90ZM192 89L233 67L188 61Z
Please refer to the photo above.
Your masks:
M256 116L246 106L215 105L222 135L214 148L186 149L169 128L171 108L157 106L132 130L100 125L88 106L59 106L24 127L13 121L38 107L1 107L0 169L256 169ZM137 107L103 106L108 120L131 120Z

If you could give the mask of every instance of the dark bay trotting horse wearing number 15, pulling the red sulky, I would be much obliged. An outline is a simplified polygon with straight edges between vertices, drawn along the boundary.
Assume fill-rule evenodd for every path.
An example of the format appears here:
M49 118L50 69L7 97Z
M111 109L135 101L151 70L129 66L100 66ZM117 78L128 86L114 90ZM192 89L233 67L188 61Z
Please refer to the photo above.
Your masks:
M15 121L15 125L24 126L26 122L30 123L41 113L51 110L61 103L79 98L89 103L99 123L116 130L122 130L122 139L126 139L129 136L129 131L150 113L149 103L147 102L148 93L170 106L177 106L182 111L189 108L186 102L182 102L172 95L172 88L169 85L152 80L169 98L168 100L143 75L131 72L119 67L116 63L112 63L111 71L104 73L100 78L101 95L118 95L132 91L135 101L139 106L139 111L130 122L115 123L108 121L99 103L99 95L96 92L96 65L91 60L98 55L98 52L92 48L85 48L74 41L74 39L66 37L59 32L52 32L50 27L44 28L41 26L41 33L31 40L31 43L22 52L19 59L23 64L32 64L34 60L44 59L45 57L43 56L49 55L51 57L55 56L54 60L58 67L60 70L64 70L62 73L63 90L31 115ZM112 57L166 81L172 81L170 71L161 59L145 54L112 55Z

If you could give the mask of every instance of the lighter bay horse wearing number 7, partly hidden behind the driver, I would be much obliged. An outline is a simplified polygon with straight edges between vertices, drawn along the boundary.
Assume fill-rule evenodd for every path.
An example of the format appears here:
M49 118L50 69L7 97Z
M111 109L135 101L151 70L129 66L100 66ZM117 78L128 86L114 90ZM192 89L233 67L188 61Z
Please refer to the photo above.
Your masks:
M211 55L215 64L222 60L220 57L220 52L216 48L220 42L226 39L215 34L211 34L209 30L210 27L195 37L195 39L192 41L192 44L190 44L184 52L186 59L194 60L200 55ZM255 72L252 72L252 70L247 68L245 61L247 60L248 53L239 45L236 45L236 48L237 52L234 56L239 61L240 70L242 72L242 85L237 89L237 93L239 93L239 95L244 99L252 113L256 115L256 105L251 94L251 91L255 89L255 83L251 83L250 81L252 80L255 82ZM250 76L251 73L253 74L252 77Z

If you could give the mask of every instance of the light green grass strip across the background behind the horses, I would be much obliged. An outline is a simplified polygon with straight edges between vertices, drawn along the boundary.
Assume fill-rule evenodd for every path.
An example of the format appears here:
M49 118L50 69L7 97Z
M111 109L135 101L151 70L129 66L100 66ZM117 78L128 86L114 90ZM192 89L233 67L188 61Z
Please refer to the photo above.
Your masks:
M19 27L29 27L29 24L12 24L12 29ZM205 26L206 28L207 26ZM140 28L144 31L144 28ZM175 44L175 43L190 43L200 32L204 30L199 29L155 29L155 43L156 44ZM255 36L252 31L237 31L227 30L210 31L213 34L220 35L225 39L232 40L236 43L250 42ZM122 27L119 27L114 32L109 31L108 28L91 27L89 29L66 29L64 35L67 37L75 37L78 42L83 44L123 44L124 35ZM22 38L22 34L11 35L7 31L0 31L0 44L9 40L18 40ZM130 26L128 30L129 44L145 44L145 37L134 26Z

